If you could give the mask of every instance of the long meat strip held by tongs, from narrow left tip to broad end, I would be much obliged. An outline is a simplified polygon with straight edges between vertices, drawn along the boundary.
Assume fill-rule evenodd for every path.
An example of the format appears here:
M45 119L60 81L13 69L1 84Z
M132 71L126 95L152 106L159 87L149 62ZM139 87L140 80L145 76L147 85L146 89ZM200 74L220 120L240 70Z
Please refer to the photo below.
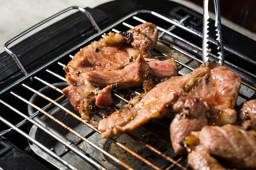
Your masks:
M222 75L224 76L220 78ZM202 101L205 99L204 102L209 104L216 104L219 109L233 110L240 83L240 77L224 66L211 64L210 67L198 68L187 75L171 77L157 84L135 104L127 104L110 117L101 120L98 129L102 132L101 137L134 130L149 119L160 118L170 112L173 104L184 92ZM222 97L225 97L225 101ZM214 115L210 115L209 118L213 123L216 118L220 122L223 121L223 124L236 122L236 111L231 112L231 115L228 113L222 117L222 110L220 110L218 115L214 112ZM127 118L126 115L128 115Z

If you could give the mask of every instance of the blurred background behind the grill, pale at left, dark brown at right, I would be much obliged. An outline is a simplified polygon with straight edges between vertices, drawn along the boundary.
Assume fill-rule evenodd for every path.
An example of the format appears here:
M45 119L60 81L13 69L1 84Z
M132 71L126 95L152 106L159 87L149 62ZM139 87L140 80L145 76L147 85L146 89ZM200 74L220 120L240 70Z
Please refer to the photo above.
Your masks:
M70 6L96 7L110 0L0 0L0 53L4 43L38 22ZM203 0L174 0L202 13ZM213 0L209 8L214 11ZM192 6L191 6L192 4ZM256 37L256 0L220 0L221 14ZM222 23L229 24L222 19ZM233 27L233 25L232 25ZM246 34L245 33L245 34Z

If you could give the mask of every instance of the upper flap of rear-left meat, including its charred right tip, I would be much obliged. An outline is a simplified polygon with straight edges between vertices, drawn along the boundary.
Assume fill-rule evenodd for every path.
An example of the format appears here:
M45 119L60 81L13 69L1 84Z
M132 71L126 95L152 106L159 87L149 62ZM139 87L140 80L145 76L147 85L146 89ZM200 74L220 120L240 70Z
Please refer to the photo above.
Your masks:
M110 32L99 41L94 41L81 49L63 68L67 73L67 82L69 84L76 83L77 79L79 79L79 74L87 71L108 71L124 68L133 58L137 57L138 51L150 52L149 49L153 49L157 42L158 32L156 26L147 22L137 27L146 30L136 29L136 31L128 31L129 33ZM154 31L150 32L148 29L153 29ZM138 39L137 36L141 38L141 41L144 41L143 46L140 48L138 47L140 45L138 42L132 44ZM154 42L151 42L151 40ZM145 42L148 43L145 44Z

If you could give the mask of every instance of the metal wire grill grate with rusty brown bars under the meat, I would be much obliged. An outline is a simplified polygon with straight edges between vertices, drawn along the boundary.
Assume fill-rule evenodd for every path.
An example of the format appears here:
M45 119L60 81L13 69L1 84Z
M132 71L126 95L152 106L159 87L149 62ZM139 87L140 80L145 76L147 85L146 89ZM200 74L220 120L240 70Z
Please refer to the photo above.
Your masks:
M79 117L63 95L61 88L66 85L62 67L78 51L77 49L93 40L99 40L109 31L128 30L142 22L153 22L159 30L159 39L153 55L173 57L178 64L180 75L193 71L202 64L200 55L202 33L187 24L186 21L190 19L189 15L181 20L175 20L153 11L135 11L106 29L99 30L83 43L68 49L31 73L23 70L22 64L18 62L25 76L1 91L0 102L5 108L3 110L8 108L8 115L20 116L20 120L13 121L8 119L6 114L1 113L0 120L9 128L2 131L0 136L15 130L29 140L36 154L59 169L80 169L80 167L113 169L115 165L117 169L186 170L186 157L175 155L171 148L169 124L172 115L150 121L134 132L126 132L108 140L100 139L100 132ZM182 46L177 45L176 40L182 43ZM212 49L216 46L214 40L215 38L212 38L210 41ZM184 50L184 46L187 50ZM225 50L238 59L255 64L255 61L250 60L249 57L232 49L226 47ZM216 51L212 50L210 55L214 60ZM225 61L225 66L238 72L242 79L245 77L237 102L239 108L245 101L254 97L256 88L250 82L255 81L256 75L231 61ZM252 81L245 81L247 79ZM45 92L45 87L48 93ZM100 120L105 112L118 109L128 101L127 94L135 96L139 91L116 91L115 96L121 102L93 115L92 119ZM33 124L29 132L22 129L28 121Z

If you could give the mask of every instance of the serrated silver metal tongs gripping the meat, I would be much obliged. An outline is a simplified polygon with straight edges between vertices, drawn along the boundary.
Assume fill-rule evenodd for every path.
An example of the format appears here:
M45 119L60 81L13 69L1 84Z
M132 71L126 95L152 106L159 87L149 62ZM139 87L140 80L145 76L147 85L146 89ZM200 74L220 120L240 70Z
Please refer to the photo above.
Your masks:
M203 16L203 44L202 44L202 60L204 66L209 66L209 0L204 0L204 16ZM216 40L217 40L217 50L218 50L218 62L219 65L224 64L224 49L222 43L222 33L221 33L221 21L220 21L220 2L219 0L214 0L214 8L215 8L215 24L216 27Z

